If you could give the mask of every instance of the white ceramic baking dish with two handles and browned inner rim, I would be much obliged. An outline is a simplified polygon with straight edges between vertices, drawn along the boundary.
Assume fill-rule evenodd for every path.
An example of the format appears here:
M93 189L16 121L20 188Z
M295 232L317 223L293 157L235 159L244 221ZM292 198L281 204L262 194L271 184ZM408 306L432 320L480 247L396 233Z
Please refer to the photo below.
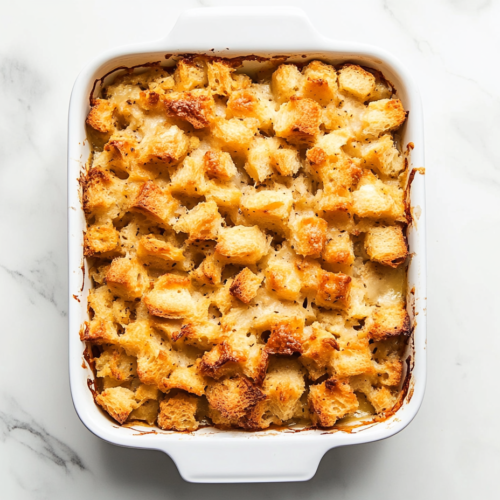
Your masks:
M212 52L213 49L213 52ZM414 316L410 386L405 401L387 420L354 432L321 430L218 431L201 429L193 434L141 433L119 427L94 404L87 387L90 370L82 368L84 345L78 332L87 320L90 280L84 267L82 244L85 218L80 203L78 178L89 156L85 118L94 81L120 66L165 61L166 54L220 54L226 57L256 54L295 55L301 62L321 58L334 64L357 62L384 73L397 88L409 119L403 144L413 142L410 168L424 166L423 123L419 94L412 79L389 53L376 47L330 40L319 35L304 13L295 8L210 8L186 11L166 38L157 42L122 47L92 61L76 80L71 96L68 136L69 220L69 361L71 392L84 425L110 443L149 448L167 453L180 474L193 482L304 481L316 472L322 456L331 448L384 439L404 429L417 413L425 387L426 370L426 257L424 175L415 176L411 190L414 222L408 238L412 253L408 273L409 312ZM303 56L306 56L304 58ZM82 281L84 283L82 288ZM151 429L142 428L142 431Z

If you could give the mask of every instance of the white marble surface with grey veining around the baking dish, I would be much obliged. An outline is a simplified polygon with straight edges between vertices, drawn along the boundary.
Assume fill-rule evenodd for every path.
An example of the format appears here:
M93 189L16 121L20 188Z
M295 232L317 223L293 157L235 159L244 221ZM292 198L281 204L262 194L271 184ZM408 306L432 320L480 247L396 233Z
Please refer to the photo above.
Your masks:
M426 118L429 370L415 421L337 449L301 484L192 485L159 452L76 416L67 374L66 126L103 49L161 37L192 6L293 4L332 38L406 62ZM500 2L0 2L0 491L10 499L493 498L500 467Z

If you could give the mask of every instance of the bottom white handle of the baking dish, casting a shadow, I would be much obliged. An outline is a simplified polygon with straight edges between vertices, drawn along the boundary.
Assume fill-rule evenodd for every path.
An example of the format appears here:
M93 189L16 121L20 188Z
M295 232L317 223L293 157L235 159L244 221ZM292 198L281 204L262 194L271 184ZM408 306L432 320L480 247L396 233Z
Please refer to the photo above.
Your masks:
M323 455L335 446L329 440L311 443L307 436L262 437L226 435L224 441L214 443L200 436L174 446L170 443L162 451L175 462L182 478L192 483L263 483L311 479Z

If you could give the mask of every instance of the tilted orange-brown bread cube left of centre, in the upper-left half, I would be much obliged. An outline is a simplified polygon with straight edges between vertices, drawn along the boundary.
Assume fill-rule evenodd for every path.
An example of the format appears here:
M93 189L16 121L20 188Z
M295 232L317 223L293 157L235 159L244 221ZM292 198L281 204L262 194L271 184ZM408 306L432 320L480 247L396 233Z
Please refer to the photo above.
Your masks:
M178 207L179 202L168 190L161 189L153 181L147 181L141 186L130 210L169 227Z

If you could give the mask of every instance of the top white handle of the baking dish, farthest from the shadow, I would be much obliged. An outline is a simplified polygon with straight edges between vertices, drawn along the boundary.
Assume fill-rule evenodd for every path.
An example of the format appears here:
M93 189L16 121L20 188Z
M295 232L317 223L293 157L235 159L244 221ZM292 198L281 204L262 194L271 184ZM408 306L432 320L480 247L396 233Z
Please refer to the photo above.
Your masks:
M252 53L317 49L323 37L295 7L209 7L184 11L163 43L176 51L199 52L200 40L206 52L229 54L233 49Z

